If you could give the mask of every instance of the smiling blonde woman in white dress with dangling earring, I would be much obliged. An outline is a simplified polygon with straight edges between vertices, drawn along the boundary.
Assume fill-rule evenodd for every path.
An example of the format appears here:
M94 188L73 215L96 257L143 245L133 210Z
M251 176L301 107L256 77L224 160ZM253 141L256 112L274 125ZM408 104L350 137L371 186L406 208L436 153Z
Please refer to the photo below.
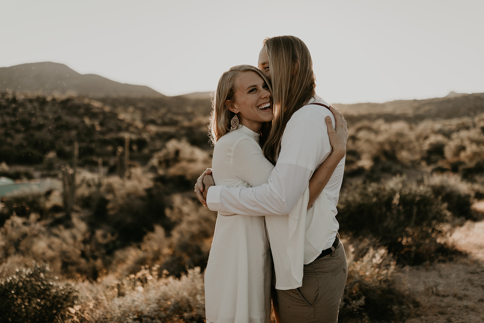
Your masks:
M217 185L250 187L268 182L274 167L264 157L261 144L268 137L272 118L271 91L259 69L239 65L222 75L210 124ZM341 152L346 139L336 136L333 126L329 128L333 144ZM323 169L329 163L336 165L342 155L332 154L315 172L305 208L330 177ZM270 322L271 267L264 217L219 212L205 272L207 322Z

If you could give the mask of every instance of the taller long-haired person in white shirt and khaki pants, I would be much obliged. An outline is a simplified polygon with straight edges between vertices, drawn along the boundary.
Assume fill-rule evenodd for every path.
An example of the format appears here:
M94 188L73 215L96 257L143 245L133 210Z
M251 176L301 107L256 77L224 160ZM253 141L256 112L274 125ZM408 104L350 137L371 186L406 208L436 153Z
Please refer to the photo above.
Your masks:
M268 184L207 184L204 198L214 211L265 215L283 323L337 322L347 262L335 217L345 159L336 158L337 165L333 158L328 162L341 153L333 150L332 154L326 132L327 118L333 114L316 95L311 55L301 39L267 38L258 65L272 80L274 120L263 152L275 167ZM306 212L302 205L308 200L308 181L320 165L328 163L334 171L327 172L331 177L323 193Z

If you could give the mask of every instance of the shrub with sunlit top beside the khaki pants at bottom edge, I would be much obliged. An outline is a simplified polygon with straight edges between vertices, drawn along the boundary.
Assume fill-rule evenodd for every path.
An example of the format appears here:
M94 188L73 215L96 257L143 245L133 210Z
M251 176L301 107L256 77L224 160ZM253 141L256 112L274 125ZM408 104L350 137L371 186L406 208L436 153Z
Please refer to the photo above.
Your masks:
M359 244L352 242L352 245ZM370 250L355 261L352 245L345 245L348 278L341 298L340 322L403 322L411 315L418 302L406 292L395 288L391 275L395 261L386 248Z

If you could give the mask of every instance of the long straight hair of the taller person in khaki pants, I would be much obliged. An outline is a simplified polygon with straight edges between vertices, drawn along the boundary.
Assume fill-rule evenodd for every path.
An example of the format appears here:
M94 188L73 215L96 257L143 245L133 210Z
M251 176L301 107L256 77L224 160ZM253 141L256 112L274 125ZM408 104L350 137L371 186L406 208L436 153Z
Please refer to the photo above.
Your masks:
M286 124L294 112L316 94L316 77L309 49L298 37L266 38L263 44L269 58L274 120L262 149L265 157L275 165Z

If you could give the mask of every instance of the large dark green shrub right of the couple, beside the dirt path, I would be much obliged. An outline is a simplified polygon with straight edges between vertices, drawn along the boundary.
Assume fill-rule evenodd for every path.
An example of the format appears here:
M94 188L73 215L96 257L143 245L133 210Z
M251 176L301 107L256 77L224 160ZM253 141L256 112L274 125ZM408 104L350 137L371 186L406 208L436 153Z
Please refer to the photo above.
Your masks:
M342 231L374 237L399 263L435 261L447 250L438 242L443 233L439 224L449 219L444 203L430 187L405 177L345 187L338 210Z

